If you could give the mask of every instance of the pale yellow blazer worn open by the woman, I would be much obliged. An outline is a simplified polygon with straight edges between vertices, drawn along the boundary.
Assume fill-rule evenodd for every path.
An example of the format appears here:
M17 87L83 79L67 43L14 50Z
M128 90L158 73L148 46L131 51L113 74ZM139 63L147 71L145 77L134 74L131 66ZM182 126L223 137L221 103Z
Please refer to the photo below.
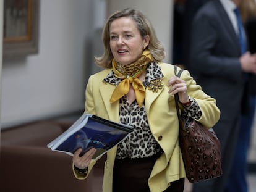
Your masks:
M169 78L174 75L174 67L166 63L159 63L159 65L164 75L162 81L164 86L158 92L153 92L146 88L145 94L145 109L150 130L163 149L163 154L156 160L150 178L148 179L151 192L162 192L168 188L170 182L186 177L181 151L179 149L179 122L174 96L168 93L169 87L167 86ZM106 69L90 76L86 90L85 112L119 122L119 102L117 101L113 104L109 102L115 86L102 81L110 71L111 69ZM181 78L186 81L189 96L197 100L202 110L202 117L198 122L206 127L213 127L220 118L220 110L216 106L215 99L205 94L201 90L201 87L196 85L187 70L182 72ZM117 148L114 147L107 153L103 192L112 191L116 150ZM95 163L96 160L90 163L88 174ZM78 179L86 178L76 174L75 177Z

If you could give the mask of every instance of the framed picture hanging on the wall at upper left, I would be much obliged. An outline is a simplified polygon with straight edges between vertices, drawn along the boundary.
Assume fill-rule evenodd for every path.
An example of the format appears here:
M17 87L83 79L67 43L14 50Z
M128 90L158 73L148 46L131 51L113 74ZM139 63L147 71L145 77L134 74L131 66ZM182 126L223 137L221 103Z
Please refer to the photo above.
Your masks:
M4 0L3 56L38 52L39 0Z

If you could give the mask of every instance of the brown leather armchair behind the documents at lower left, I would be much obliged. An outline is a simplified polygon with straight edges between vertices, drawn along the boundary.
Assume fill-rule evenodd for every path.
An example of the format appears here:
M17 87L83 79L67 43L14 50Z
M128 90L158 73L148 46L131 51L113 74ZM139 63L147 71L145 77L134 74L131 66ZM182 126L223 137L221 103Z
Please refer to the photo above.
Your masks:
M47 148L66 128L58 122L43 121L2 130L0 191L100 192L102 170L92 170L86 180L77 180L72 173L72 157Z

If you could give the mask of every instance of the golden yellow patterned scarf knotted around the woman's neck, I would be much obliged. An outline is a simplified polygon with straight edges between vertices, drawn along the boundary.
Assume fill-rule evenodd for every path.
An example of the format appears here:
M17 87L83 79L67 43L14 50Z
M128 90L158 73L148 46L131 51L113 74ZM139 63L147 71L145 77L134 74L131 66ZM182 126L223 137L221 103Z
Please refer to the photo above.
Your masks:
M117 100L122 98L122 96L126 95L129 92L130 84L132 84L132 88L135 91L136 101L138 102L139 107L142 106L143 101L145 99L145 87L142 84L142 82L138 79L138 77L140 77L140 75L142 75L142 73L145 72L145 70L147 69L147 65L151 61L153 61L153 57L151 56L150 51L146 49L145 51L143 51L142 57L140 57L138 61L126 67L134 69L133 66L135 66L135 68L139 67L139 70L132 72L132 75L126 75L123 74L124 72L120 72L119 70L117 70L116 61L114 59L112 60L114 75L117 78L121 78L122 81L114 89L112 96L110 98L110 103L116 102ZM127 73L129 74L129 72Z

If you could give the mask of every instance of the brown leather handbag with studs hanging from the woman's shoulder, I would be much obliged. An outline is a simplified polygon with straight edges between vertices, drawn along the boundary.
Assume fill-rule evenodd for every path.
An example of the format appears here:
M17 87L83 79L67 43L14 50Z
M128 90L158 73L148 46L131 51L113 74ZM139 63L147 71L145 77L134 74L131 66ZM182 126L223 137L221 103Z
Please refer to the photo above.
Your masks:
M176 75L176 66L174 72ZM176 75L180 77L182 69ZM208 130L201 123L179 110L179 97L175 94L177 116L179 118L179 146L190 183L202 182L220 177L221 145L212 128Z

